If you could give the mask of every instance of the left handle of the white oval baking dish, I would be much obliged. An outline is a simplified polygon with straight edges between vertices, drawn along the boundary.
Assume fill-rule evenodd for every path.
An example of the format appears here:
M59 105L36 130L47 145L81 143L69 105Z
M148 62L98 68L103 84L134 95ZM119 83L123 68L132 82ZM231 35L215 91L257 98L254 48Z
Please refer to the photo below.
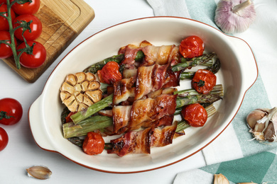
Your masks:
M46 128L43 124L43 113L42 109L40 108L41 98L41 96L38 97L29 108L28 117L31 132L33 134L33 139L35 139L36 144L38 144L41 149L45 149L47 151L55 151L48 137Z

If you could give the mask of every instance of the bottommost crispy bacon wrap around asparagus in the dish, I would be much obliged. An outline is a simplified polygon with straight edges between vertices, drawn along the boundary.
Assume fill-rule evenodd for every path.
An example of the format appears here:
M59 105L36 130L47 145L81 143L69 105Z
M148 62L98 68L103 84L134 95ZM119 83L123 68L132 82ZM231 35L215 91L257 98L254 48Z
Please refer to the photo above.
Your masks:
M172 144L177 123L170 126L147 128L141 131L130 131L122 137L111 140L112 149L108 154L125 156L127 154L150 154L152 147Z

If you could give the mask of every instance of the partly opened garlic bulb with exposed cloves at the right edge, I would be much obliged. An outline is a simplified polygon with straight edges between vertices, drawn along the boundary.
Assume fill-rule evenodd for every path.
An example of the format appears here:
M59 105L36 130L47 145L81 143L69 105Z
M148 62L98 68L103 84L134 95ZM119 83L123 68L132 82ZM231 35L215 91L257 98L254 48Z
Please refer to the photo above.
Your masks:
M277 142L277 108L255 109L246 117L247 125L255 139Z

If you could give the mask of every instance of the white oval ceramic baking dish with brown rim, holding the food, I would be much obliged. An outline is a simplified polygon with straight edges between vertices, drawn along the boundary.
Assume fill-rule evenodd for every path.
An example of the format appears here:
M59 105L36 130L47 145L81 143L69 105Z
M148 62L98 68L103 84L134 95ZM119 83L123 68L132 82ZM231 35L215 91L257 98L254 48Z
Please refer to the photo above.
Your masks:
M205 42L207 52L216 52L222 62L217 83L224 86L224 98L217 113L204 127L188 128L186 135L173 144L151 149L151 154L133 154L120 158L104 151L89 156L63 138L60 114L60 86L67 74L75 74L89 65L117 53L119 47L148 40L153 45L178 45L188 35ZM210 25L177 17L140 18L119 23L87 38L70 51L54 69L43 93L31 105L29 122L36 144L46 151L58 152L87 168L109 173L136 173L168 166L192 156L210 144L232 122L246 91L254 84L258 69L249 45L239 38L224 35ZM182 82L181 88L190 88Z

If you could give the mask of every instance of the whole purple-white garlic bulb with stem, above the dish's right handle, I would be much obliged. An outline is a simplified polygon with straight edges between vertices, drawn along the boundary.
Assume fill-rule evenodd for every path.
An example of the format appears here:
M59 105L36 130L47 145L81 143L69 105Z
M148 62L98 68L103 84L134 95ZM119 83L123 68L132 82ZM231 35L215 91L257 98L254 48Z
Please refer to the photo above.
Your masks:
M220 0L214 21L224 33L241 33L249 28L256 18L251 0Z

